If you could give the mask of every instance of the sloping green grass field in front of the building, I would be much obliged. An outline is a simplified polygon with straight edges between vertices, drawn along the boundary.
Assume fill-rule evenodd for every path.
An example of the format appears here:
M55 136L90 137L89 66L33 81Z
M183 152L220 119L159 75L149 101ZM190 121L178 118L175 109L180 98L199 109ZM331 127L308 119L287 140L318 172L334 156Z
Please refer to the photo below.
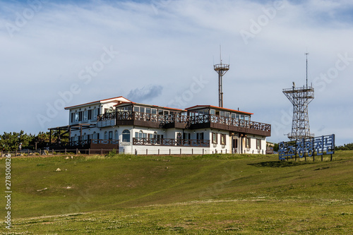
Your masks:
M2 196L0 233L352 234L353 151L318 160L13 157L12 227Z

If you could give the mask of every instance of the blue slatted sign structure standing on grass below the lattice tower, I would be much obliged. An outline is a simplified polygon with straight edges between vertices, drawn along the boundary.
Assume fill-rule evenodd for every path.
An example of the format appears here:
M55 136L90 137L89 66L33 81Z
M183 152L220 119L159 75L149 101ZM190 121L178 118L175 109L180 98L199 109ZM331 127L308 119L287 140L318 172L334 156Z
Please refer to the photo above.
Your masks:
M301 138L299 140L281 142L278 144L278 157L280 160L304 156L333 155L335 153L335 134L323 135L314 138Z

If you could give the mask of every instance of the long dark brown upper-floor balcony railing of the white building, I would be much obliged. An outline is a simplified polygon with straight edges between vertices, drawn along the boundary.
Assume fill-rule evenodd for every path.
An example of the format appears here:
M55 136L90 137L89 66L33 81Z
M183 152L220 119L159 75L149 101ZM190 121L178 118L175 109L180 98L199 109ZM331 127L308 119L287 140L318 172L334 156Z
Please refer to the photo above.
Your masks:
M204 114L199 116L184 116L181 114L148 114L140 112L114 112L102 114L98 116L98 121L108 121L116 119L116 121L148 121L160 123L162 125L169 123L185 123L187 125L202 124L202 123L218 123L227 126L235 126L240 128L249 128L256 131L271 131L271 125L249 121L244 119L234 119L227 116L218 116L214 114ZM99 125L98 125L99 126Z

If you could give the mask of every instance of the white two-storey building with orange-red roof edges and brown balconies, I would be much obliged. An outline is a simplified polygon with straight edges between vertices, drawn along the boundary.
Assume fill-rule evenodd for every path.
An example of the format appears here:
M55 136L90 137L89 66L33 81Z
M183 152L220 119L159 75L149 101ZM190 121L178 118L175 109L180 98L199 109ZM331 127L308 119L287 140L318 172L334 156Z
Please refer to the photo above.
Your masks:
M126 154L265 154L271 133L251 113L211 105L173 109L115 97L65 109L68 126L49 130L68 132L70 147Z

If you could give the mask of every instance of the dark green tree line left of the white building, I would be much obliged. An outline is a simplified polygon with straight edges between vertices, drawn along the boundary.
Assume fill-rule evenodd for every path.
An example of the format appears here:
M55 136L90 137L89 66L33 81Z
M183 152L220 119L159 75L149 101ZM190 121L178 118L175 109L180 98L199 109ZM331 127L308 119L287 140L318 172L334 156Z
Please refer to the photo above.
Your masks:
M3 135L0 135L0 148L3 151L43 149L49 146L49 135L49 131L40 132L37 135L27 134L24 131L4 132ZM61 143L68 142L68 133L64 137L66 138L60 138ZM58 132L52 131L52 143L55 143L57 140Z

